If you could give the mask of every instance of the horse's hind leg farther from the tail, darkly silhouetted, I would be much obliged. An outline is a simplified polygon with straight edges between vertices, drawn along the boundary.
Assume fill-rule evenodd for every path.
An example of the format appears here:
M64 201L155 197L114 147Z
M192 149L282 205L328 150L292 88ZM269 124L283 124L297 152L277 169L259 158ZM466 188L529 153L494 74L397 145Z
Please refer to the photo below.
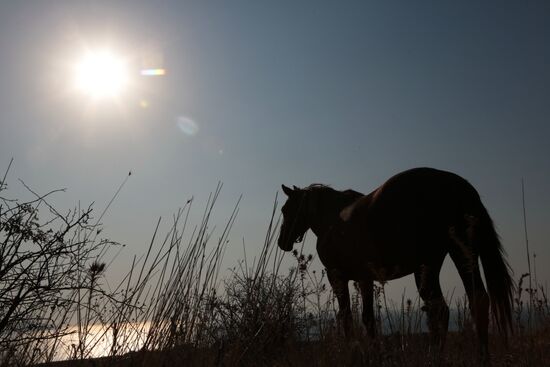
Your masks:
M443 260L435 265L423 265L419 271L414 273L418 292L424 301L423 310L428 316L431 344L436 348L434 350L436 353L441 352L445 345L449 326L449 307L443 298L439 284L439 271L442 263Z

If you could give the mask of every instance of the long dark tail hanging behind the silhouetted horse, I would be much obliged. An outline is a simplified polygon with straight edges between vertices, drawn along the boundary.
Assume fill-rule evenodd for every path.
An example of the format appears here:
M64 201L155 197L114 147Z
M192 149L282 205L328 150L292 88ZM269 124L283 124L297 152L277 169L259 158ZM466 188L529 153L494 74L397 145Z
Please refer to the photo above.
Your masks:
M498 330L506 336L508 330L513 331L514 281L493 221L481 202L480 205L478 222L474 228L474 246L483 265L493 320Z

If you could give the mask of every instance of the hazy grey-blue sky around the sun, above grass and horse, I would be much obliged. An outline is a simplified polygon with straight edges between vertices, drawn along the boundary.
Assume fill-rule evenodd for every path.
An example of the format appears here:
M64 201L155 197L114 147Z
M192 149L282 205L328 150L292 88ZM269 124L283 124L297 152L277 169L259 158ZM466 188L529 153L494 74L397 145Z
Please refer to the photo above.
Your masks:
M167 226L190 197L201 212L222 181L218 225L243 195L231 266L243 239L249 256L261 247L281 184L368 193L402 170L440 168L477 188L516 279L523 179L529 245L549 280L548 19L547 1L1 0L0 169L14 158L17 195L20 178L67 188L57 206L99 212L132 171L103 220L126 260L158 217ZM102 48L132 78L94 100L73 74ZM449 261L441 280L460 293Z

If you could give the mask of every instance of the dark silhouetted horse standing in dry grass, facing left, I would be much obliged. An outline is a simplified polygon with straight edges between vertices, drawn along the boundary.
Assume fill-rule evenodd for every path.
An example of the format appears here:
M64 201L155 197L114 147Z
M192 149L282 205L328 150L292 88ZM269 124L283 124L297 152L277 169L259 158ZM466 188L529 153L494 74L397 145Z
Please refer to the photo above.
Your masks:
M307 230L313 231L345 334L352 322L350 280L359 284L362 321L367 335L374 337L373 282L414 274L430 345L442 350L449 307L439 273L447 254L466 290L481 359L489 361L489 308L504 337L512 330L511 268L489 213L464 178L422 167L396 174L368 195L320 184L282 189L288 198L281 208L278 246L291 251Z

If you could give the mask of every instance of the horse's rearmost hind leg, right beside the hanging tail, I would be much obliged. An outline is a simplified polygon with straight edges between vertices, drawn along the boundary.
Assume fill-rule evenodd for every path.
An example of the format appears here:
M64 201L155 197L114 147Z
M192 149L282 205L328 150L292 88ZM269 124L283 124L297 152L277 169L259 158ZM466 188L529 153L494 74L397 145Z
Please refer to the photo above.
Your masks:
M479 354L481 360L487 364L489 363L489 296L479 272L478 255L465 241L461 241L454 231L451 231L451 237L456 244L450 250L451 259L464 283L470 311L476 325Z

